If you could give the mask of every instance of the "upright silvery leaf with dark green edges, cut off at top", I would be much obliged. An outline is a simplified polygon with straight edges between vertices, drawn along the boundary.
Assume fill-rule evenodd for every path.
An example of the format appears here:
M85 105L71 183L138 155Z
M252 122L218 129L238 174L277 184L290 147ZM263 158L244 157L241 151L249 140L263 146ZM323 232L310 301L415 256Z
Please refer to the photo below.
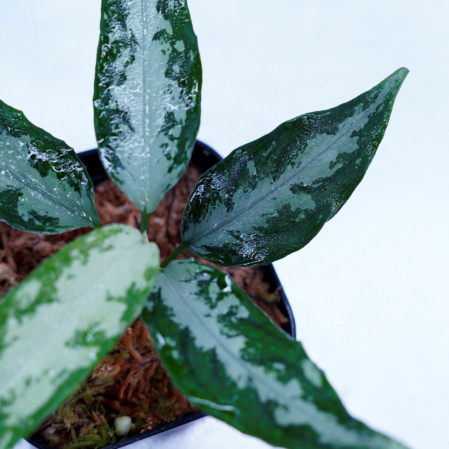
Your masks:
M189 162L202 71L185 0L103 0L95 81L101 161L152 212Z

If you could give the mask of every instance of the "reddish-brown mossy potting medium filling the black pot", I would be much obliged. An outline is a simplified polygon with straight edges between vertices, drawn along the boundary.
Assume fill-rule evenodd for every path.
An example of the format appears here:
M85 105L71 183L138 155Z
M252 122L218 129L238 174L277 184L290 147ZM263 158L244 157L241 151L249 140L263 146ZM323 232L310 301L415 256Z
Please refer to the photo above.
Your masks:
M148 238L158 244L161 261L180 243L185 204L201 172L189 165L178 184L150 215ZM101 224L122 223L140 228L141 212L110 180L95 187L95 204ZM77 229L59 235L26 233L0 222L0 297L24 279L44 259L74 238L90 232ZM195 257L186 250L180 258ZM284 330L289 323L277 307L278 291L264 279L261 268L219 267ZM172 384L160 364L151 335L138 318L91 376L43 423L39 440L57 448L77 449L111 444L114 419L128 415L132 430L127 438L194 412L194 407Z

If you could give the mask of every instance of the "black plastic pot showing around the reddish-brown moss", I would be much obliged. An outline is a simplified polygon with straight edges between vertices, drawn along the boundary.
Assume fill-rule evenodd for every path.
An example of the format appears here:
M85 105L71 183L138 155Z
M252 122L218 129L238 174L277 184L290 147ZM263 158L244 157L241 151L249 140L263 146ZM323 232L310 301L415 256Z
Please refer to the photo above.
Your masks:
M98 157L97 150L88 150L84 151L83 153L78 154L81 161L84 163L84 165L87 168L87 171L89 173L89 176L92 179L92 182L94 184L97 184L101 182L102 180L105 180L107 178L106 172L101 165L100 159ZM214 150L212 150L209 146L206 144L196 141L194 146L194 151L192 154L192 162L202 171L206 172L209 170L209 168L213 167L216 163L220 162L222 157ZM287 328L287 332L293 337L296 337L296 329L295 329L295 318L293 317L293 313L291 311L290 304L288 302L288 299L284 293L284 290L281 286L281 283L279 282L279 278L277 277L276 271L273 268L272 264L265 265L262 267L264 270L264 277L267 282L273 287L273 291L280 287L280 295L282 302L278 304L279 308L281 309L282 313L288 317L289 320L289 328ZM124 438L123 440L119 440L113 445L105 446L102 449L117 449L122 446L129 445L131 443L134 443L139 440L143 440L145 438L148 438L149 436L156 435L158 433L164 432L166 430L173 429L175 427L182 426L183 424L190 423L191 421L194 421L198 418L203 418L206 416L203 412L196 412L189 415L186 415L182 418L176 419L176 421L173 421L172 423L167 423L159 427L155 427L154 429L151 429L149 431L140 433L135 436L130 436L129 438ZM31 436L27 439L27 441L39 449L53 449L51 446L40 442L35 437Z

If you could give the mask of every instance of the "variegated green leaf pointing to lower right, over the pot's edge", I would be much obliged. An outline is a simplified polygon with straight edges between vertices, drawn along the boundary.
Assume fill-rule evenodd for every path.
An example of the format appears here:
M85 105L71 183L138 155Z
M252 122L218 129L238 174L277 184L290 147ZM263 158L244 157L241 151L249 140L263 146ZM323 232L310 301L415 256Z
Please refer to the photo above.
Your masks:
M344 409L324 374L228 275L175 260L142 313L190 401L275 446L404 449Z

